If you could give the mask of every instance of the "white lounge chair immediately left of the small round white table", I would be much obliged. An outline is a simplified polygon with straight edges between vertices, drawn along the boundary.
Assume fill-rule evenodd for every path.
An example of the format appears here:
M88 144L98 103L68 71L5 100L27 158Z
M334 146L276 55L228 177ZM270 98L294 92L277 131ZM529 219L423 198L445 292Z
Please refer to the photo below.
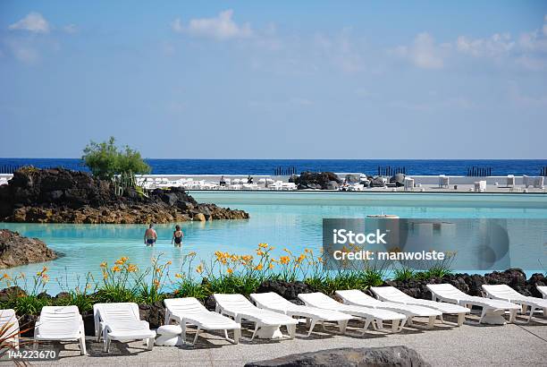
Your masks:
M156 331L150 330L147 321L140 320L137 303L95 303L93 317L97 342L103 337L105 352L108 352L112 340L145 339L147 348L154 348Z

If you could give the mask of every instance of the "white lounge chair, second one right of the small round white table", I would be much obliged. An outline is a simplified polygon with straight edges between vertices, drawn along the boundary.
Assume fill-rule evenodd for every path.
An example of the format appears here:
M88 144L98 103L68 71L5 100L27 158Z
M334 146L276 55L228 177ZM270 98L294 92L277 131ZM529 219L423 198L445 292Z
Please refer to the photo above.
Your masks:
M287 328L291 339L296 334L298 320L278 312L261 310L253 303L250 303L242 294L213 294L213 297L216 301L216 312L230 316L239 323L241 323L241 320L255 323L255 330L251 340L255 337L268 339L282 337L279 330L281 326Z

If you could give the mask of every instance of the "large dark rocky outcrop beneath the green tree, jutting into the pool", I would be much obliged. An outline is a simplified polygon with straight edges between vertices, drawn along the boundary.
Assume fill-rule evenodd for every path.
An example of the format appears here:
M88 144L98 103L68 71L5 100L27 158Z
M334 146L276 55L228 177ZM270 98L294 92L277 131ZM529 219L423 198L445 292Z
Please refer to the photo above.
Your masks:
M156 189L147 196L133 188L122 196L114 185L85 172L23 167L0 186L0 220L29 223L170 223L245 219L248 213L203 204L181 188Z

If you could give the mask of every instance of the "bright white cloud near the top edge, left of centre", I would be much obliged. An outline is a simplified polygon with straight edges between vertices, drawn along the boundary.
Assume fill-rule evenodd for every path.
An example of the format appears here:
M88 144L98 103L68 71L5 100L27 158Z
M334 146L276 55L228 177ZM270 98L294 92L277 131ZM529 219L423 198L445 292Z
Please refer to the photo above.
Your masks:
M248 23L238 25L231 19L233 10L225 10L213 18L191 19L188 26L184 26L180 18L172 23L176 32L187 32L190 35L226 40L233 38L249 38L253 31Z

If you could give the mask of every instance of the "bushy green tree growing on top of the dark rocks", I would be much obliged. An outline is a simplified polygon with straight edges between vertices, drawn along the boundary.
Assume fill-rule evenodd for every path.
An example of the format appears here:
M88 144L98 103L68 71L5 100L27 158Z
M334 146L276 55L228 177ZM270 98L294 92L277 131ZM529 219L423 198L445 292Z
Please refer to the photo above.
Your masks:
M81 159L93 175L110 180L122 172L150 173L150 166L140 157L139 151L127 145L118 148L115 142L114 136L111 136L108 141L90 141L83 149Z

